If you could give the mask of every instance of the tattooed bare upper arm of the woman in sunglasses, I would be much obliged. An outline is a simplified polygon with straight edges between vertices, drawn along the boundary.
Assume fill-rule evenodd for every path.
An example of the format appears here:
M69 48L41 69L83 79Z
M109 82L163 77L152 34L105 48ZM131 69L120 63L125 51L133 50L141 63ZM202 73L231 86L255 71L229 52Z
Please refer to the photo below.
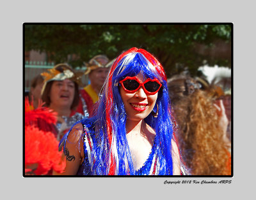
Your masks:
M83 160L83 125L77 124L70 130L65 145L63 157L66 160L65 171L59 175L76 175ZM56 175L56 173L54 173Z

